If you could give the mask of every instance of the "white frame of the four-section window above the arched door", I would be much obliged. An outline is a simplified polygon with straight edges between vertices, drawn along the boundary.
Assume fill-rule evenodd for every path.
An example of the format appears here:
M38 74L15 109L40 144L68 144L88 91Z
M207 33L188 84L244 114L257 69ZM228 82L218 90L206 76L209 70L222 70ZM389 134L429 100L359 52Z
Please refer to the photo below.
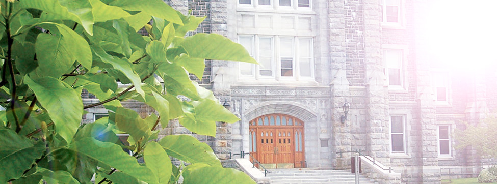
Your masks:
M239 78L242 80L259 80L259 81L315 81L315 57L314 57L314 38L313 37L297 37L297 36L266 36L266 35L245 35L245 34L240 34L238 36L238 39L240 41L241 37L251 37L253 38L253 45L252 45L252 50L254 51L254 58L259 61L260 59L260 38L271 38L271 47L273 50L273 55L272 55L272 60L271 60L271 67L272 67L272 72L271 76L263 76L260 75L260 65L252 65L252 74L253 75L243 75L240 72L240 67L241 65L238 65L238 74ZM280 53L280 40L282 38L291 38L293 40L293 48L292 48L292 76L281 76L281 53ZM310 77L307 76L300 76L300 44L299 40L310 40ZM250 53L249 53L250 54Z

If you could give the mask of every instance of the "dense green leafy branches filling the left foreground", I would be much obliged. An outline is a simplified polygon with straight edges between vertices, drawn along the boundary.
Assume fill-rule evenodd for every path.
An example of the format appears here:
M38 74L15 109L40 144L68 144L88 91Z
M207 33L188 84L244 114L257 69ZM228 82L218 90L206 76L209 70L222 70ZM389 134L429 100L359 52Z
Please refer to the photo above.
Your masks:
M216 121L239 120L189 73L201 78L204 59L256 62L220 35L185 38L205 17L182 15L161 0L0 0L0 6L0 183L89 183L94 175L97 183L176 183L180 176L186 183L253 182L223 168L191 136L155 142L158 124L171 119L209 136ZM138 33L142 28L147 36ZM84 104L83 89L100 102ZM121 104L127 100L158 115L144 119ZM85 109L96 106L109 117L81 125ZM129 134L131 145L116 133ZM190 165L177 167L170 158Z

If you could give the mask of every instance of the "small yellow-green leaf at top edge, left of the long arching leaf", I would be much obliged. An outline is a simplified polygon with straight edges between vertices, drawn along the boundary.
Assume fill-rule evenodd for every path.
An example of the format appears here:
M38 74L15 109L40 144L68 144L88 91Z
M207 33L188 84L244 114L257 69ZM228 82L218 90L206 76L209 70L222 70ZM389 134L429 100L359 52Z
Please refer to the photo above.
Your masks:
M95 16L95 22L105 22L131 16L122 8L106 5L100 0L91 0L91 4L93 6L92 11Z

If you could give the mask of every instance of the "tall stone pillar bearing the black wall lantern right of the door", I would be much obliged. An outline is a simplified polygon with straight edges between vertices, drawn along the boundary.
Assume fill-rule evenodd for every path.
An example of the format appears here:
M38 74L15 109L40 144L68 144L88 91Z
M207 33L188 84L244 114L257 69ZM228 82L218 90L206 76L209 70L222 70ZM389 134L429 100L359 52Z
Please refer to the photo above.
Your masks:
M345 7L344 1L328 1L330 60L331 60L331 121L333 152L351 151L350 121L342 124L340 117L344 114L342 106L349 99L349 82L347 81L346 42L345 42ZM349 99L350 100L350 99ZM352 107L353 108L353 107ZM333 154L333 168L350 168L351 154Z

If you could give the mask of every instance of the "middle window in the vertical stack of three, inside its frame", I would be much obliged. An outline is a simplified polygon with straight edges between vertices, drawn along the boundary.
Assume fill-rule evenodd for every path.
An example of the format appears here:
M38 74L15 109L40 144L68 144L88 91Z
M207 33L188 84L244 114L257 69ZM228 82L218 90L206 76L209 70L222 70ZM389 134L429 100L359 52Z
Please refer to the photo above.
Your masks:
M385 74L388 86L403 88L403 54L401 49L383 50L383 73Z

